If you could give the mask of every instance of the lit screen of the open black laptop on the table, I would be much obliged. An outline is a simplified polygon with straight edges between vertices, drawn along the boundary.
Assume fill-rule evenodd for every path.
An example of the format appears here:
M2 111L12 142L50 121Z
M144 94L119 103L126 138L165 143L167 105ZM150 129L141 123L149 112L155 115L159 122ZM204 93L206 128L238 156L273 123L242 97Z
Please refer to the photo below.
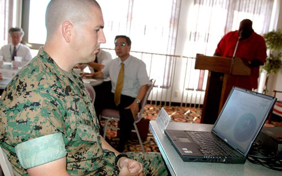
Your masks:
M274 103L271 96L233 87L213 132L246 156Z

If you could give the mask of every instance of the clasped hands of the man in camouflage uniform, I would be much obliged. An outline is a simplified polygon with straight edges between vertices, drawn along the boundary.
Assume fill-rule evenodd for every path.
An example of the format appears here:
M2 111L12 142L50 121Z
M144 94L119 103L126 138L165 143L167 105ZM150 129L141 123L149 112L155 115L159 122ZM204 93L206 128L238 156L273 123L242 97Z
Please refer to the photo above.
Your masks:
M138 161L131 160L126 157L121 157L121 159L118 161L118 166L120 169L120 173L118 175L120 176L143 175L143 165Z

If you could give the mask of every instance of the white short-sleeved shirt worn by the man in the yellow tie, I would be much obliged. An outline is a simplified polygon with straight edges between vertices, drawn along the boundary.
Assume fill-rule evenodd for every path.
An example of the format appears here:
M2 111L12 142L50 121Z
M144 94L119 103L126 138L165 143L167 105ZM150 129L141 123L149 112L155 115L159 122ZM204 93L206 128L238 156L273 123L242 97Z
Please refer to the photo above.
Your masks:
M136 98L141 86L149 84L146 64L136 57L129 56L124 62L124 80L121 90L122 95ZM111 60L102 70L104 78L110 76L112 81L112 93L115 92L117 77L121 68L121 59Z

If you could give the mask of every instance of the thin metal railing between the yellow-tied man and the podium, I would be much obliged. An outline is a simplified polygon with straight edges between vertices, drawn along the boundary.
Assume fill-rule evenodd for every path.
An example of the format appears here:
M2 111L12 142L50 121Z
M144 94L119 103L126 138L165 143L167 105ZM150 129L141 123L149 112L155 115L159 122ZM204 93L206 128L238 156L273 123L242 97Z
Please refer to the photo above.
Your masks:
M116 56L114 49L103 48ZM150 79L156 79L148 100L154 105L197 107L203 104L208 71L194 69L195 58L130 51L130 55L141 59Z

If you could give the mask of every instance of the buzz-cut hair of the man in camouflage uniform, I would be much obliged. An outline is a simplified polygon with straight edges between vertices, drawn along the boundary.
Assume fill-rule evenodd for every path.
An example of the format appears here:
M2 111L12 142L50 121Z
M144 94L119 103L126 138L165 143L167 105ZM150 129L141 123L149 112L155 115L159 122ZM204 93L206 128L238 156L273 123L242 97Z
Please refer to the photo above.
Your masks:
M53 36L64 21L74 24L87 22L92 6L100 8L95 0L51 0L45 15L47 39Z

